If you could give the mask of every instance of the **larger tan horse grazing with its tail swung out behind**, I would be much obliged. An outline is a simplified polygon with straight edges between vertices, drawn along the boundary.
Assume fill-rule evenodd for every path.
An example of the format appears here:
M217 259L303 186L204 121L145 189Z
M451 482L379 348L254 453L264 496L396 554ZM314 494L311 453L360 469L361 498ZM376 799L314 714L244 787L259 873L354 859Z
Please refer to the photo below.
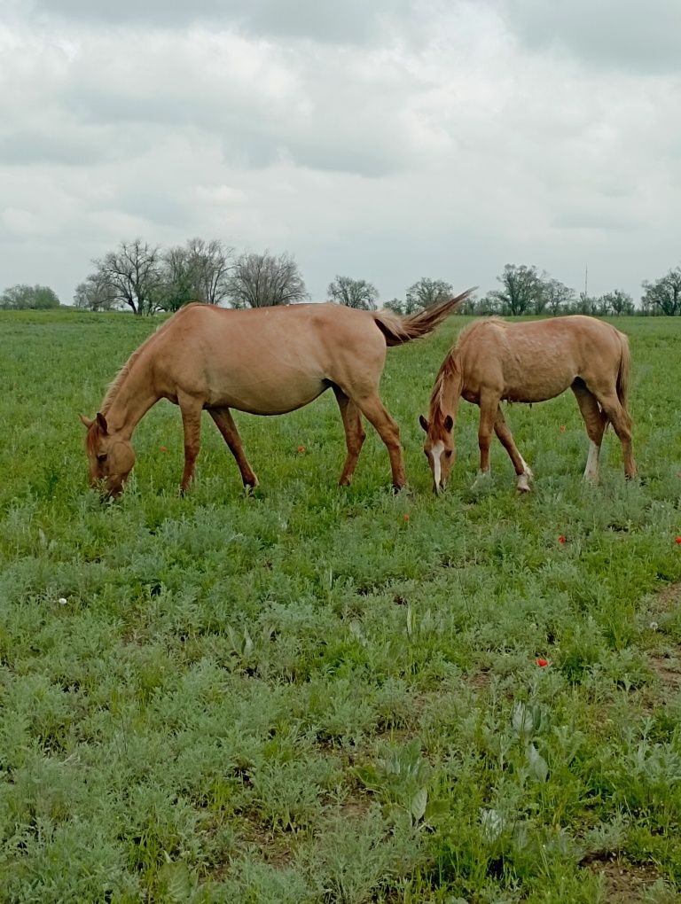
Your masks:
M80 415L88 430L91 485L107 495L122 492L135 464L132 432L156 401L168 399L182 411L183 492L194 475L203 409L230 447L243 484L256 486L230 409L284 414L331 388L347 444L341 485L350 482L364 442L363 414L388 448L393 485L399 489L404 485L400 434L378 394L386 346L431 333L468 294L409 317L328 304L225 310L194 303L182 308L130 355L97 417Z

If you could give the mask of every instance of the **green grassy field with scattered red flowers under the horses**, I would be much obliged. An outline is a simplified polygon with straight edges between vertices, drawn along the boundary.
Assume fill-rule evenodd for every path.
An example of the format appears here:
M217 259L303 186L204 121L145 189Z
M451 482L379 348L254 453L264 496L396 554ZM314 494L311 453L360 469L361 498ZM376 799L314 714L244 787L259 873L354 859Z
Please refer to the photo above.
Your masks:
M449 490L418 415L454 334L391 350L410 489L333 397L135 434L118 504L82 411L156 323L0 314L0 901L671 902L681 888L681 318L627 318L642 479L609 432L582 485L572 393L507 411ZM564 541L560 541L563 538ZM537 659L548 664L539 665Z

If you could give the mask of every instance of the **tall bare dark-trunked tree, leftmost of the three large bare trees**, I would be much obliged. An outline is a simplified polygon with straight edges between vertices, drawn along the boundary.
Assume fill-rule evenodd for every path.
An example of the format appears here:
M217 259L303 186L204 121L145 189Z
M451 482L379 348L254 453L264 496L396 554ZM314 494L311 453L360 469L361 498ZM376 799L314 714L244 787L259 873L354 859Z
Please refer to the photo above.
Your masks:
M138 315L161 309L163 278L157 245L141 239L122 241L117 250L92 263L95 272L90 278L106 283L116 302Z

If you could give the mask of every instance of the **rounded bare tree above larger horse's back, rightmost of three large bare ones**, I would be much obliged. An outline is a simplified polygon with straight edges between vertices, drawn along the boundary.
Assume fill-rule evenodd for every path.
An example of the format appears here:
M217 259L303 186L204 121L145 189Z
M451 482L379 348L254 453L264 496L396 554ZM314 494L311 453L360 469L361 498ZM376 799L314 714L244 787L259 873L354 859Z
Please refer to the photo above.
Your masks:
M307 297L298 264L286 253L278 257L268 251L241 254L227 282L227 298L232 307L290 305Z

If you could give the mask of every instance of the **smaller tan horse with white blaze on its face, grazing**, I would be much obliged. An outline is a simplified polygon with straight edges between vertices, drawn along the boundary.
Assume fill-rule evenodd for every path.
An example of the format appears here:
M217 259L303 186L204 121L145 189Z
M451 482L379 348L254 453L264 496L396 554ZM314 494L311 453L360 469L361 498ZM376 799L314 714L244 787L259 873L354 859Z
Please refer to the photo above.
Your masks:
M430 396L429 419L421 415L433 489L436 493L444 489L454 464L452 431L463 396L480 408L481 475L489 472L494 429L515 467L518 490L527 493L532 471L515 447L499 402L545 401L568 387L591 440L584 479L598 481L601 439L608 423L620 438L626 476L636 476L627 410L629 369L627 336L593 317L572 315L519 324L497 317L475 321L461 332L440 367Z

